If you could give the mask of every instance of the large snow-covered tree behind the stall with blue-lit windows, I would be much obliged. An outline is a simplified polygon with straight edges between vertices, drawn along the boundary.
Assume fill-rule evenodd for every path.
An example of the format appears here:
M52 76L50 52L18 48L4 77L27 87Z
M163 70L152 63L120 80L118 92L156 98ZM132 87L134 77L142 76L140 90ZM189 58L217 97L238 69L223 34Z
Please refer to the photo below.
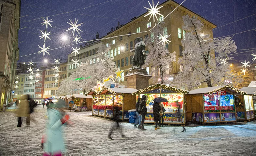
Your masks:
M187 32L182 40L183 57L178 60L183 69L177 74L173 84L191 90L203 82L211 87L213 84L224 84L225 79L234 78L227 63L232 60L228 55L236 52L236 45L231 37L211 39L209 35L202 33L203 23L195 16L190 18L186 15L183 22L183 29Z

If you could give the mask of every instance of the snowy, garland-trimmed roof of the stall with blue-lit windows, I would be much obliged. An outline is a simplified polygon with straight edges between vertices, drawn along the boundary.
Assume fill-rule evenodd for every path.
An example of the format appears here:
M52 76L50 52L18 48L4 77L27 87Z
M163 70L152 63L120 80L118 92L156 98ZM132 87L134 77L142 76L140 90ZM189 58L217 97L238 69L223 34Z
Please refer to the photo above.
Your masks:
M229 86L229 85L199 88L199 89L195 89L193 91L190 91L188 94L202 94L202 93L212 94L212 93L222 91L222 90L225 90L225 89L232 90L232 91L240 93L240 94L246 94L246 92L240 91L239 89L236 89L236 88L234 88L232 86Z

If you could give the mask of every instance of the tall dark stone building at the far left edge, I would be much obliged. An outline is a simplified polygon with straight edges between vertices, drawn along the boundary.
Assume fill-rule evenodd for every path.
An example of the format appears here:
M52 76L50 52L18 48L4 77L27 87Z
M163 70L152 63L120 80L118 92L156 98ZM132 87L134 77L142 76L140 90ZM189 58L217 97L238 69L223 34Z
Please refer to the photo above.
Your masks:
M12 99L16 62L19 60L20 1L0 1L0 110Z

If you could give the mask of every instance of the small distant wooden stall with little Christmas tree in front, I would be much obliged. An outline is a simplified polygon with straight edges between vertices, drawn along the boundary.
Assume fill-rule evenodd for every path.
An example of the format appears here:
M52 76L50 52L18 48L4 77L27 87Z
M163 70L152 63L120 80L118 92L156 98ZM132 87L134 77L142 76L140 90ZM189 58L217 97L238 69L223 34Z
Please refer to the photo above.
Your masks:
M76 111L91 111L92 96L84 94L72 94L71 99L74 101Z

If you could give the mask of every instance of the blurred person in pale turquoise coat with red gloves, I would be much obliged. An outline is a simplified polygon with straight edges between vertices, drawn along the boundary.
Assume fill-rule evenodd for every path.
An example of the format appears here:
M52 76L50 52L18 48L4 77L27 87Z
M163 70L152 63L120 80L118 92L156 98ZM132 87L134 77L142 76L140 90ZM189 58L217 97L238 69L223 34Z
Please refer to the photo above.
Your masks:
M48 123L46 139L43 140L43 156L61 156L65 150L62 137L62 126L70 118L62 108L65 107L65 101L59 99L57 103L48 106Z

